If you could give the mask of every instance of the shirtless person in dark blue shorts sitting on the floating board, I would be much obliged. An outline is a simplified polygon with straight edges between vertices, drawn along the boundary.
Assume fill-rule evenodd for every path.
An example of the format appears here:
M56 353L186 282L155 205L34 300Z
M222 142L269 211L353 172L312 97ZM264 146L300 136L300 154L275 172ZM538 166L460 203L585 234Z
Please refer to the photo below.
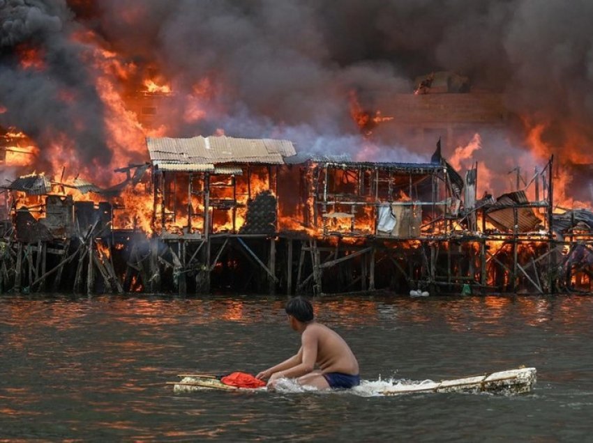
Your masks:
M359 364L352 350L336 332L315 322L308 300L294 297L285 311L290 327L301 334L301 348L290 359L256 375L268 380L268 389L274 389L279 378L297 378L299 384L317 389L348 389L360 384Z

